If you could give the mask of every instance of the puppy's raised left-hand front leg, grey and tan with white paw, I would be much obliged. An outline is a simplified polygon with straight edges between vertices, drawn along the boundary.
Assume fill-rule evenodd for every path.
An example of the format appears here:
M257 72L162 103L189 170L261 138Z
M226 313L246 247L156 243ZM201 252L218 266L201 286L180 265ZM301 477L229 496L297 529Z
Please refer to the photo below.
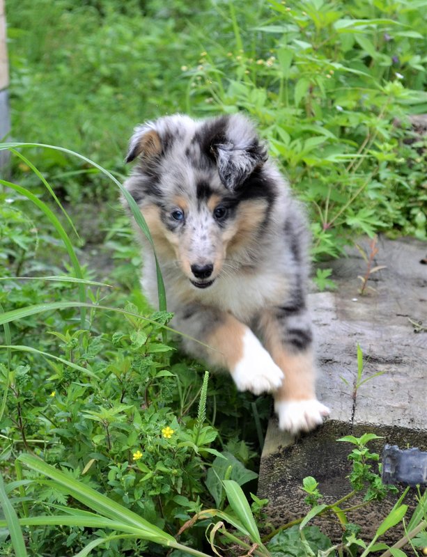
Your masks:
M213 366L228 369L239 391L256 395L277 391L284 379L283 372L251 329L230 313L214 308L198 310L178 316L178 326L209 348L184 338L187 351Z

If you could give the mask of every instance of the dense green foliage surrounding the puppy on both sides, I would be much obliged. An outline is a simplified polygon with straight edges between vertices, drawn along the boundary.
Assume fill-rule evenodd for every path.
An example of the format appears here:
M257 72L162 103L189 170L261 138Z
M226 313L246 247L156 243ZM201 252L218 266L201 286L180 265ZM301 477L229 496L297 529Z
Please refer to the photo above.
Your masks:
M313 258L338 256L361 234L426 240L425 139L408 120L427 112L426 8L9 0L8 141L75 151L121 182L137 123L241 110L306 202ZM173 534L202 508L224 508L220 480L254 492L270 400L235 393L224 377L202 388L201 363L165 336L171 315L153 313L139 292L140 255L114 180L40 146L13 150L10 175L0 189L0 467L22 480L9 491L20 516L77 503L24 472L23 452ZM317 278L331 285L324 270ZM254 505L261 520L263 503ZM204 527L183 540L203 546ZM35 556L72 556L105 535L101 526L25 531ZM147 544L112 538L93 555L164 553ZM0 530L0 555L12 554Z

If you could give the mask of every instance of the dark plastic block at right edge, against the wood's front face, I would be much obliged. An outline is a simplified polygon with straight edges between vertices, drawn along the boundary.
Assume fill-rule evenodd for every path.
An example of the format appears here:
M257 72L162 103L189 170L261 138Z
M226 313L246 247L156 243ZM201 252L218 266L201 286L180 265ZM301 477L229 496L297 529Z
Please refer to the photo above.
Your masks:
M386 445L382 451L382 482L427 485L427 453Z

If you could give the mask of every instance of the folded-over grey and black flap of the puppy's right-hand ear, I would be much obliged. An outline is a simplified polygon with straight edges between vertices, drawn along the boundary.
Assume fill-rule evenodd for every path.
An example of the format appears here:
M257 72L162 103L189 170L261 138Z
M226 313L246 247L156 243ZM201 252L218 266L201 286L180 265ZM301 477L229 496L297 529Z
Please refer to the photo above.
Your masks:
M267 160L267 150L258 139L243 148L231 142L220 143L215 150L219 178L232 193Z

